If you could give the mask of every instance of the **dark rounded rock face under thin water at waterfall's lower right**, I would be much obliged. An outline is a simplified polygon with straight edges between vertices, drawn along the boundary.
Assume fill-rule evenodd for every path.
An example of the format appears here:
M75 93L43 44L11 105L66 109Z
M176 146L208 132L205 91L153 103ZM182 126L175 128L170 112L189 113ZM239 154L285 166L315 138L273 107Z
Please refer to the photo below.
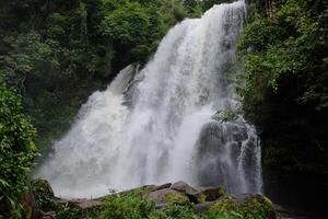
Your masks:
M195 157L199 183L204 186L223 185L230 193L242 192L237 183L238 170L234 166L238 166L242 142L247 139L247 128L242 120L211 122L203 126ZM248 157L254 159L251 154Z

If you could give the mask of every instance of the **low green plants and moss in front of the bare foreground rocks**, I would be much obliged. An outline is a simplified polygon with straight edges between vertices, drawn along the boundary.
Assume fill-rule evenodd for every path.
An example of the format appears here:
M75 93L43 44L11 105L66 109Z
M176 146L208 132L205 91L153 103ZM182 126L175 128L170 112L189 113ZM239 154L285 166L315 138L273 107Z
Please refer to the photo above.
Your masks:
M163 210L155 209L155 203L145 199L150 191L147 187L127 191L120 194L107 196L102 206L90 208L79 208L78 206L58 201L54 197L49 184L43 180L32 182L32 191L36 205L42 210L56 211L59 219L266 219L276 218L272 203L263 196L248 196L245 200L237 203L226 195L223 188L219 193L223 194L215 204L206 211L197 212L195 204L190 203L186 194L167 194L163 200Z

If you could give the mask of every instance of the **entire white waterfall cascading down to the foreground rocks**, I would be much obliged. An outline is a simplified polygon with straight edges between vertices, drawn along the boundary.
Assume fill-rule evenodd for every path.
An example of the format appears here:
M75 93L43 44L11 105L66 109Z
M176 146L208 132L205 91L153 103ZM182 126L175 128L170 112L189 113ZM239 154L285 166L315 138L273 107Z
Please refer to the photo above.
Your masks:
M213 119L239 105L235 47L244 21L237 1L177 24L143 70L134 76L129 66L90 96L36 175L63 197L180 180L260 193L254 128L242 116Z

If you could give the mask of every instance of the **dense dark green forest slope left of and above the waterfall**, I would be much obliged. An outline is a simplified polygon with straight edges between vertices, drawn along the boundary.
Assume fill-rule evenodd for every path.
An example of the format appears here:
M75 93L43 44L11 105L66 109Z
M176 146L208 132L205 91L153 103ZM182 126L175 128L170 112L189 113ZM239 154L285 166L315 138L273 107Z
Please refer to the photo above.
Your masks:
M1 1L0 70L22 95L42 152L90 93L125 66L144 64L191 11L180 0Z

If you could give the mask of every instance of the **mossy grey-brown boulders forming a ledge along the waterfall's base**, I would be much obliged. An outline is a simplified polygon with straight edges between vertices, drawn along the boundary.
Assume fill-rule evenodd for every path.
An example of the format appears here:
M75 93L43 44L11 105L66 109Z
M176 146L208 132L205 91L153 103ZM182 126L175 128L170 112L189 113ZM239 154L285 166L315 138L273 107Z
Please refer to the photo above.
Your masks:
M54 196L54 192L49 184L43 180L32 182L32 192L34 193L36 210L43 215L33 219L61 219L70 216L62 214L68 207L72 212L77 214L77 218L97 218L101 209L105 205L105 197L95 199L63 199ZM187 183L179 181L174 184L166 183L160 186L147 185L140 188L126 191L108 195L110 198L128 196L129 194L140 194L140 198L144 198L155 204L155 210L167 211L173 206L185 206L195 209L199 214L208 212L225 212L226 210L238 211L239 214L257 214L261 209L265 214L263 219L276 219L272 203L261 195L244 194L238 196L227 195L222 187L199 187L195 188ZM35 206L33 206L35 208ZM58 216L58 217L57 217ZM60 217L59 217L60 216ZM243 216L244 217L244 216ZM251 215L245 215L251 218Z

